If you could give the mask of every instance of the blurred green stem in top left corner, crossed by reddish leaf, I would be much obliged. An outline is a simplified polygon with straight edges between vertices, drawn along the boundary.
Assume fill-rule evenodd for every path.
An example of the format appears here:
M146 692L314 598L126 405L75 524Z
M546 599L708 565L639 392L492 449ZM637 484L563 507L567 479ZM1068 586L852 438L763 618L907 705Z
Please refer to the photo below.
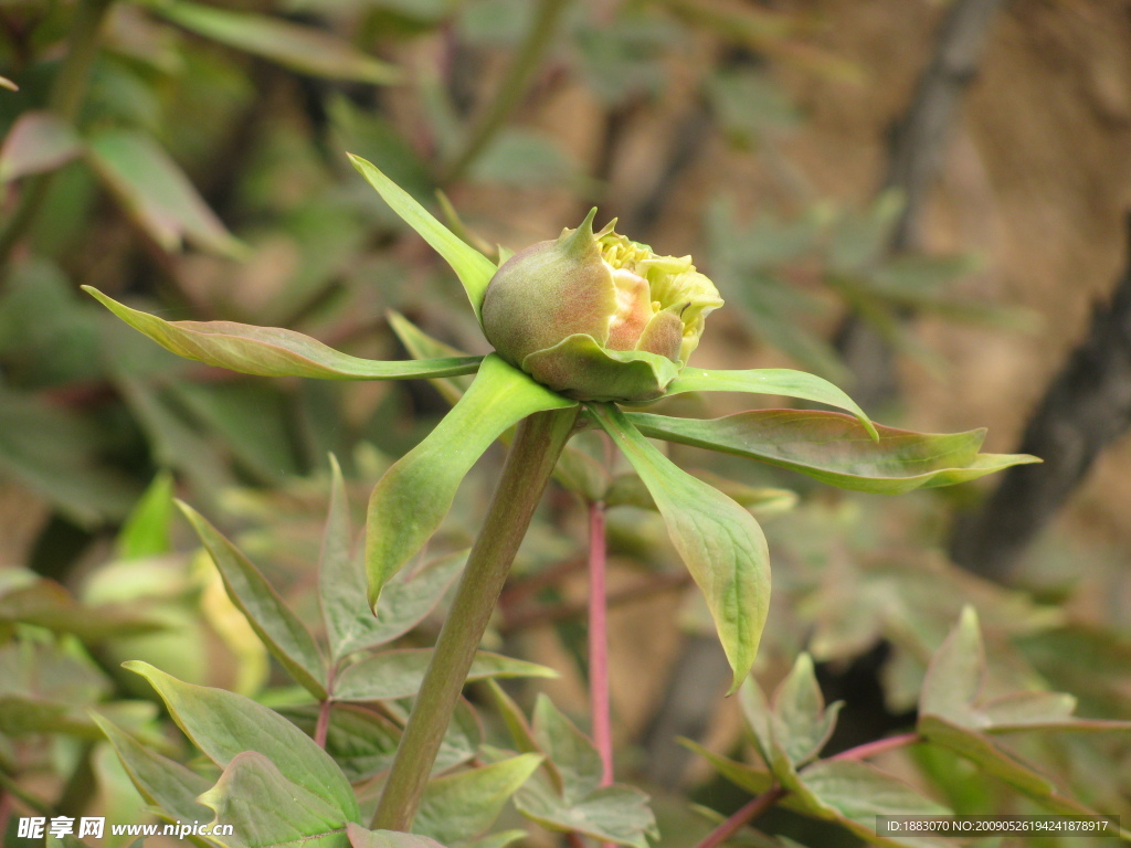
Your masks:
M81 0L75 10L68 40L67 57L48 96L48 109L68 122L74 122L86 93L90 66L98 53L98 34L113 0ZM7 263L12 248L31 226L36 211L46 197L51 173L36 174L27 180L19 205L0 231L0 267Z

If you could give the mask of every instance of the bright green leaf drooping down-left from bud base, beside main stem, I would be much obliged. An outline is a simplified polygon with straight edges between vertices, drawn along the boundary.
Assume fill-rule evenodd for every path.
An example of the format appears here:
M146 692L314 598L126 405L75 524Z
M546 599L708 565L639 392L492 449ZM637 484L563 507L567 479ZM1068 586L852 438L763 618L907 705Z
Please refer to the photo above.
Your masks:
M576 405L497 354L483 360L467 393L373 490L365 530L370 604L440 526L460 482L503 431L534 413Z

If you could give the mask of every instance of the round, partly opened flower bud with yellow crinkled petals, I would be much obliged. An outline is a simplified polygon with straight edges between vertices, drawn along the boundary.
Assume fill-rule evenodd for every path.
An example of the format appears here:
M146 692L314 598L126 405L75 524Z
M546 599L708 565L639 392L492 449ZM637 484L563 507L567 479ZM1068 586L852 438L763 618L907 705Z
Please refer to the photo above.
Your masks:
M483 298L483 331L507 362L578 400L661 397L723 305L691 257L658 257L613 232L577 230L507 260Z

